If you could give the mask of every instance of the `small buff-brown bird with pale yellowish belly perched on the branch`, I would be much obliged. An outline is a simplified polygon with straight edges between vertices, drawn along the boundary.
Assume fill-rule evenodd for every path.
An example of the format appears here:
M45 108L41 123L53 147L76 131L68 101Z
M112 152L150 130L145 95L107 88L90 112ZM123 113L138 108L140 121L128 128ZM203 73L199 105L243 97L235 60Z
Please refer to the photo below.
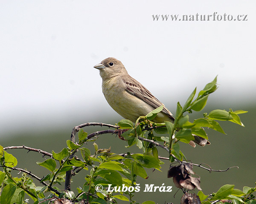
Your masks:
M156 123L174 122L175 118L166 106L140 82L131 77L121 61L108 57L94 68L99 70L102 78L102 92L105 99L120 116L135 123L138 117L145 116L163 106L163 110L157 113L152 121ZM210 144L207 139L199 136L195 136L193 141L201 146ZM194 142L191 141L189 144L195 147Z

